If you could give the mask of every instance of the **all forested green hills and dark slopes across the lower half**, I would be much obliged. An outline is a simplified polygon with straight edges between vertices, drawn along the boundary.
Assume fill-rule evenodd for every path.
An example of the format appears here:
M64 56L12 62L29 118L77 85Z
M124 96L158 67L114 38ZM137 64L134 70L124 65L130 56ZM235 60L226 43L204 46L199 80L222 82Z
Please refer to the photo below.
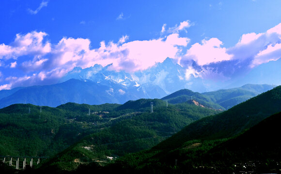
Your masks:
M223 98L219 94L216 97ZM209 99L215 100L214 96ZM151 102L154 113L150 113ZM0 110L0 128L5 128L0 133L7 142L15 141L13 132L22 137L29 133L25 141L34 144L49 141L37 154L53 154L52 158L40 168L23 173L278 173L280 103L281 87L275 87L225 112L190 101L166 107L163 100L141 99L123 105L66 103L57 108L43 107L45 119L42 111L39 121L35 119L39 106L11 105ZM29 107L33 115L19 114L28 112ZM17 121L12 124L9 117ZM54 121L49 121L51 118ZM10 130L7 136L6 129ZM46 131L37 138L36 130ZM17 142L21 144L15 147L20 148L0 144L0 150L6 154L30 153L25 141ZM9 166L2 168L11 172Z

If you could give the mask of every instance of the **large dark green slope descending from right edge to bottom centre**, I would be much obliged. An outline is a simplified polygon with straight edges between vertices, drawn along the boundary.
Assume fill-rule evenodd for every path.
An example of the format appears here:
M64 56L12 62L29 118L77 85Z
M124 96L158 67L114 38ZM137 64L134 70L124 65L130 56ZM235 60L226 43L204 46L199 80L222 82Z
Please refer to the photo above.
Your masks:
M152 149L128 154L110 167L127 173L209 174L233 173L235 162L248 160L263 160L261 167L268 166L268 162L276 166L274 161L280 162L280 140L276 140L280 114L274 119L265 118L280 111L281 87L276 87L218 115L193 122Z

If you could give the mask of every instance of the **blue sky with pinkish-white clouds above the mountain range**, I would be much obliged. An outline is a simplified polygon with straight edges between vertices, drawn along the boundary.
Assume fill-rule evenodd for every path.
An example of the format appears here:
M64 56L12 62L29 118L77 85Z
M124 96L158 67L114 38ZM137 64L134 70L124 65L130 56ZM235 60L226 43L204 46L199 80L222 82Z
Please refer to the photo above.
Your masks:
M230 79L281 57L281 0L1 0L0 90L94 64L143 71L167 57Z

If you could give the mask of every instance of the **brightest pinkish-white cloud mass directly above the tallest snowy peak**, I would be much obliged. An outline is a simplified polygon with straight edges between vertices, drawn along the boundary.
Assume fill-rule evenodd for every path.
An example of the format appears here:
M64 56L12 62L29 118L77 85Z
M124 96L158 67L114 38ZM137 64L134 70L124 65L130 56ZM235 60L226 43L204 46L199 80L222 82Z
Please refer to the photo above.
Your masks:
M118 49L120 57L117 70L137 71L153 66L155 62L162 62L165 58L177 58L180 51L178 46L187 46L188 38L181 38L178 34L171 34L164 38L149 41L132 41L124 43ZM114 65L114 63L113 63ZM128 66L130 65L130 66Z

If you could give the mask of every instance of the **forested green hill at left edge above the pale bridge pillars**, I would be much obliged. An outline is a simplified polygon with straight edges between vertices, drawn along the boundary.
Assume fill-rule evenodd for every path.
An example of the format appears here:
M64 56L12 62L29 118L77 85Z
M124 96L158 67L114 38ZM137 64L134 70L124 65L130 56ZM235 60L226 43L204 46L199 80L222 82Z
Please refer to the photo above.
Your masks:
M109 121L93 113L118 104L66 103L57 108L13 104L0 109L0 155L52 156ZM89 116L89 109L91 116ZM94 126L93 126L94 124Z

